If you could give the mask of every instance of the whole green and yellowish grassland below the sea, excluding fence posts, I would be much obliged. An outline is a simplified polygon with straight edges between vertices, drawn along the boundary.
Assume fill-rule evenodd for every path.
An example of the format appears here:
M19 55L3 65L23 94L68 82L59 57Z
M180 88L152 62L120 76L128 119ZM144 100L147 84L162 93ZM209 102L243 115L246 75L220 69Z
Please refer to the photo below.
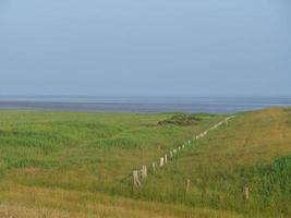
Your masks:
M291 217L289 109L238 113L133 187L132 170L222 119L0 111L0 217Z

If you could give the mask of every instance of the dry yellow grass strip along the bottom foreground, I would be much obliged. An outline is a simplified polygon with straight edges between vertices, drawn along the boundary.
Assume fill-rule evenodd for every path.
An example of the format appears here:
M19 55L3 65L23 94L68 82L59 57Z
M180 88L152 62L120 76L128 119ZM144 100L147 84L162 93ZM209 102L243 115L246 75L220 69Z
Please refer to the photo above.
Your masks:
M148 203L101 194L1 186L1 218L238 218L234 213ZM4 198L4 201L3 201Z

